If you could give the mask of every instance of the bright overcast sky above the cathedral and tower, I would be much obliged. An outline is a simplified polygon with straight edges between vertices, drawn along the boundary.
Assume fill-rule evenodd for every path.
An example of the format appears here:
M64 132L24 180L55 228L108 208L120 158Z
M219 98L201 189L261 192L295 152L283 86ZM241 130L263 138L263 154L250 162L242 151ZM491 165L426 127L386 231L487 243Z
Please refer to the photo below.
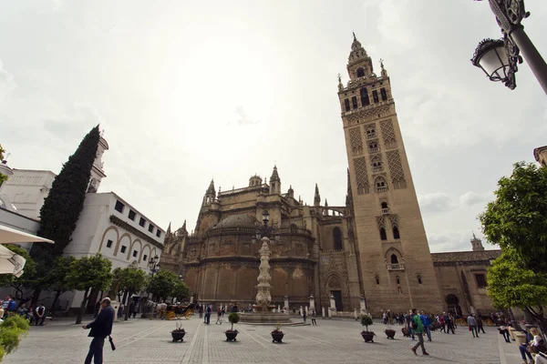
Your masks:
M526 0L547 57L547 2ZM547 144L547 97L524 61L517 88L470 64L500 30L486 1L4 1L0 143L10 167L58 173L100 123L100 192L190 229L212 177L245 187L277 164L282 189L343 205L336 74L352 32L383 58L434 252L470 248L512 163ZM492 248L487 247L487 248Z

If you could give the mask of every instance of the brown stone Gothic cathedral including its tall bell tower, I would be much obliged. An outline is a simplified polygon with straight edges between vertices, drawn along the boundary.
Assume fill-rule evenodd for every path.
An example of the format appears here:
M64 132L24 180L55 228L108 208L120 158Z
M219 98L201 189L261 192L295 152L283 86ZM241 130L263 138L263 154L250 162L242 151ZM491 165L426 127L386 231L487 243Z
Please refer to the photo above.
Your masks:
M300 308L313 296L317 307L329 307L334 297L336 311L353 311L365 300L373 314L476 309L470 269L485 272L495 254L473 252L462 265L457 253L430 253L387 70L381 64L377 76L355 35L346 67L349 80L345 86L339 76L337 87L348 159L346 205L322 203L316 185L313 205L305 204L290 185L282 188L277 167L269 180L250 177L247 187L217 192L211 181L194 230L189 234L186 223L176 231L169 227L161 256L162 267L182 274L195 299L253 304L261 247L256 224L266 210L275 227L275 305L283 307L288 298L289 308ZM440 268L452 266L459 270ZM473 294L480 309L490 308L482 299L486 289Z

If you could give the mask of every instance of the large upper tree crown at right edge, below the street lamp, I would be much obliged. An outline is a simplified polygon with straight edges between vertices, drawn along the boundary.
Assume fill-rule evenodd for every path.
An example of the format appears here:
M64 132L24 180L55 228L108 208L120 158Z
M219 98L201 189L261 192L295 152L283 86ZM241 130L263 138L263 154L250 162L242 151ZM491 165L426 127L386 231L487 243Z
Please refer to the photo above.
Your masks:
M515 163L494 193L479 216L485 237L514 251L524 267L547 272L547 168Z

